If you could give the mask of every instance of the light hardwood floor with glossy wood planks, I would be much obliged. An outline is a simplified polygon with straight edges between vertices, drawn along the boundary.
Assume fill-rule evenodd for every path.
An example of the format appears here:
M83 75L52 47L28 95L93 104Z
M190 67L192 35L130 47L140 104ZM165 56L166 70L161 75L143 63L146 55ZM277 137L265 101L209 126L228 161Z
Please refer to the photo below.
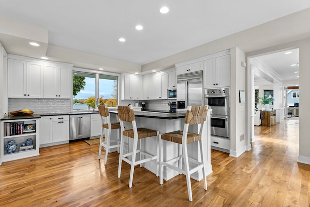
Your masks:
M271 127L255 127L252 150L237 159L212 150L208 190L203 190L202 181L192 180L193 202L188 201L184 175L159 185L158 177L137 166L129 189L128 164L123 162L117 178L118 153L110 153L105 166L97 159L99 146L82 141L41 148L40 156L2 163L0 206L308 207L310 165L296 161L296 122L288 118Z

